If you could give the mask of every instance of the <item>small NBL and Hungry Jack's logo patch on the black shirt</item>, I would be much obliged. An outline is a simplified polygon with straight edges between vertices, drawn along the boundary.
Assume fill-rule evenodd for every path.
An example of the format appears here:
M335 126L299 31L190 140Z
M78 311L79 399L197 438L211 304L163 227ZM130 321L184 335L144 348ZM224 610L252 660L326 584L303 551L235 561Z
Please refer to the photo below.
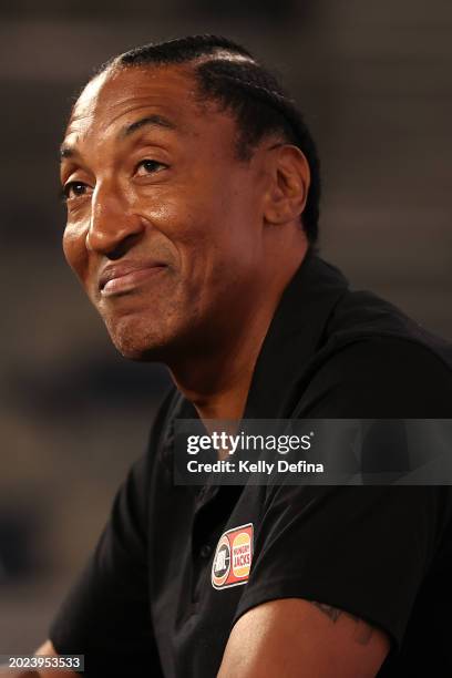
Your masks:
M253 561L253 523L225 532L212 564L212 586L229 588L246 584Z

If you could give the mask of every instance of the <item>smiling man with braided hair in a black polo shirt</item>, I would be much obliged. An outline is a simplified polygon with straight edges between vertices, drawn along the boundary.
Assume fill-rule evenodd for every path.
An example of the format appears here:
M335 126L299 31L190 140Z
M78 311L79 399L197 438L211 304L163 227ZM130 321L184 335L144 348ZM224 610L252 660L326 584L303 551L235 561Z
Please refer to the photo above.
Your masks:
M120 55L61 178L69 264L175 388L40 651L88 676L451 675L448 487L173 484L176 418L450 417L446 347L316 255L315 145L278 83L215 37Z

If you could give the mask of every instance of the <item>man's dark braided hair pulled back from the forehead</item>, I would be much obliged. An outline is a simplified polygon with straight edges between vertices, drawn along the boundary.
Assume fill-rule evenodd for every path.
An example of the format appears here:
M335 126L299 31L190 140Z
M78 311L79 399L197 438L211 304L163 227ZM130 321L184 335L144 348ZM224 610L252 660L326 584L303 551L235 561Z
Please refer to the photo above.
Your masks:
M209 59L210 58L210 59ZM111 59L112 66L183 64L201 59L195 66L199 93L232 111L238 127L237 151L242 160L267 135L280 133L305 154L311 184L302 226L308 242L318 237L320 174L316 144L294 101L278 80L242 45L217 35L189 35L151 43Z

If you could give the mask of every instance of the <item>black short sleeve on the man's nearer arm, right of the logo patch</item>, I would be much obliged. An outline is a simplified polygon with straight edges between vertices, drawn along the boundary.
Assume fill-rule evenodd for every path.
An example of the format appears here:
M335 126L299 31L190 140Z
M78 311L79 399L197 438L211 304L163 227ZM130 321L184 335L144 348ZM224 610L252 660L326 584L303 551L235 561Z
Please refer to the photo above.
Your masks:
M446 418L451 373L431 351L388 338L327 361L300 401L307 418ZM306 598L386 630L400 646L451 520L450 486L274 486L255 531L236 619Z

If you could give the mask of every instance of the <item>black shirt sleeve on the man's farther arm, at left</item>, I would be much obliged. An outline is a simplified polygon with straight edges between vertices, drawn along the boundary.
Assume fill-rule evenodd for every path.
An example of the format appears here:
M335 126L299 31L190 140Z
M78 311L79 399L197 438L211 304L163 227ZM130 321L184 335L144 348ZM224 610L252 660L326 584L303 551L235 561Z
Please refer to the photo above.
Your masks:
M85 657L86 676L163 675L148 605L146 458L130 471L84 572L54 618L50 639L59 654Z

